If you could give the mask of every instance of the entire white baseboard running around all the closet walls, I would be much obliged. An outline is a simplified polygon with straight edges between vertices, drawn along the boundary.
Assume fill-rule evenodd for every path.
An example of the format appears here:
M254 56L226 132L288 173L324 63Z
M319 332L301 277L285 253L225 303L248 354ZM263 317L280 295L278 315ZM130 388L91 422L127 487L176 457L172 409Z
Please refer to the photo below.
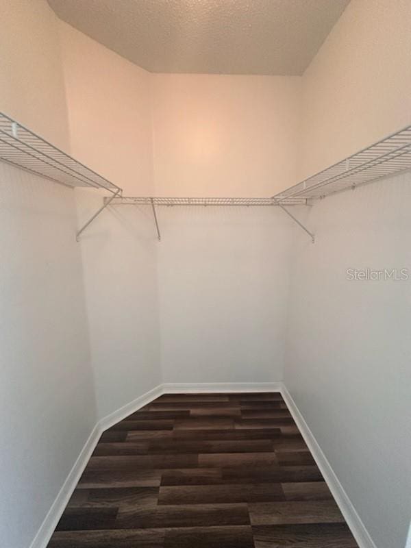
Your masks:
M308 427L306 421L303 419L301 412L297 408L295 401L292 399L286 386L282 382L215 382L215 383L164 383L159 384L147 393L139 396L133 401L127 403L119 410L114 411L108 416L101 419L97 425L93 428L86 444L80 452L73 468L66 477L60 492L58 493L55 501L51 505L47 516L45 517L40 529L38 530L34 540L29 548L46 548L51 535L53 534L55 527L66 508L67 503L75 486L77 485L86 464L94 451L97 442L104 430L110 428L112 425L125 419L126 416L132 414L138 409L153 401L153 399L159 397L165 393L219 393L219 392L280 392L286 401L288 409L292 414L295 423L299 427L299 430L306 440L312 456L316 460L316 463L323 474L332 495L336 499L336 502L349 525L353 536L360 548L377 548L371 539L371 536L367 532L364 524L362 523L360 516L353 507L353 504L349 500L347 493L343 489L343 486L338 481L338 477L334 473L331 465L325 457L321 447L316 442L314 435ZM408 547L408 545L407 545Z

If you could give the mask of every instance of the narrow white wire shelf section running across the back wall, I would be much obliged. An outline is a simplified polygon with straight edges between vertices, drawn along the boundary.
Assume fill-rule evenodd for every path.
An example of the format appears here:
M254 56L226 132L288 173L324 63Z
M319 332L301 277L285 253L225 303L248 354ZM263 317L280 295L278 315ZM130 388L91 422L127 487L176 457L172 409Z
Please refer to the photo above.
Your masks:
M105 199L108 201L108 199ZM290 198L283 205L305 205L305 198ZM116 197L112 206L277 206L274 198L166 198L166 197Z

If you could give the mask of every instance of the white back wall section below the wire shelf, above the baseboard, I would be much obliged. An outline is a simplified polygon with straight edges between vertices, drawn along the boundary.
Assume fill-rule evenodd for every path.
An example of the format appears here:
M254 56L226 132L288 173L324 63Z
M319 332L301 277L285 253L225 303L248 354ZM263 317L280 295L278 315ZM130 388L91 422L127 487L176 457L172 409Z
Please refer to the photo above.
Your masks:
M164 382L281 380L290 252L284 212L174 207L158 218Z

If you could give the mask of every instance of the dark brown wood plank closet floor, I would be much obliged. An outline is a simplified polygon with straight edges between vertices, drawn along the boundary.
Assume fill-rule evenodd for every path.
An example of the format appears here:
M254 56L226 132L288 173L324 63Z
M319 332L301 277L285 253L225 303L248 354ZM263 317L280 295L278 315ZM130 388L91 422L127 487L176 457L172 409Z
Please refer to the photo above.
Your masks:
M101 436L49 548L358 548L279 393L163 395Z

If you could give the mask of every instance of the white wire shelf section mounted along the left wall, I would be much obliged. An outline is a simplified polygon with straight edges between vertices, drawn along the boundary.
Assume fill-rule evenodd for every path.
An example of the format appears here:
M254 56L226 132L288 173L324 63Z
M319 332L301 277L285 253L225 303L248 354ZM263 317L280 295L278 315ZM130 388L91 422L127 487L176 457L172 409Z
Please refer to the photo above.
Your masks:
M0 160L69 186L121 188L0 112Z

